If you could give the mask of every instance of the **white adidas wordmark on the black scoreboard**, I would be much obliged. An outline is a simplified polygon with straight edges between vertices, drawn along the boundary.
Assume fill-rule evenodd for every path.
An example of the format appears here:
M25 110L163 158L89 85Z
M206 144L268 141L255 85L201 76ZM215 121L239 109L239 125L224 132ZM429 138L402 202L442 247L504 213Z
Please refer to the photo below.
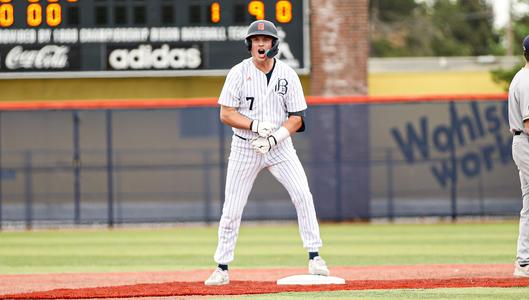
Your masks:
M200 50L173 48L162 45L140 45L135 49L115 49L108 56L108 63L116 70L126 69L196 69L202 63Z

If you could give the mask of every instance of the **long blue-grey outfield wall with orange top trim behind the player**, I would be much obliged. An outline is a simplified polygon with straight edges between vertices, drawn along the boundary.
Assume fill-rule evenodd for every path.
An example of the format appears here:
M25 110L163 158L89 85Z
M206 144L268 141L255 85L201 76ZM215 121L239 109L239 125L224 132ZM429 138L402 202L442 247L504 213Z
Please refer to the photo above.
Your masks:
M320 219L516 215L506 95L309 98L294 143ZM0 105L1 224L216 222L215 99ZM245 219L295 219L264 171Z

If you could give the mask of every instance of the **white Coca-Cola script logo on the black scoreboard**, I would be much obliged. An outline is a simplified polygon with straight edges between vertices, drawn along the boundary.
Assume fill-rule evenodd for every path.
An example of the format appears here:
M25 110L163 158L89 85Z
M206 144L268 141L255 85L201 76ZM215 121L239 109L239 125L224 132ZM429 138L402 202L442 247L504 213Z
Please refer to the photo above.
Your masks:
M11 49L5 59L8 69L64 69L68 66L68 46L46 45L41 49Z

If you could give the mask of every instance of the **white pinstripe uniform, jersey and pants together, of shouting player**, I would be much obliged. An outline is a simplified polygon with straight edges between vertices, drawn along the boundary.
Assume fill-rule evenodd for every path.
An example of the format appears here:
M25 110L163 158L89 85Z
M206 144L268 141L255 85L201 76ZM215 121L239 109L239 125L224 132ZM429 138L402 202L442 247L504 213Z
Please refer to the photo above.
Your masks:
M234 66L226 77L219 104L235 107L252 120L269 121L278 127L288 118L289 112L307 109L298 75L277 59L268 85L266 75L255 67L252 58ZM257 135L249 129L233 128L233 132L246 139ZM226 201L214 255L219 264L233 261L244 206L257 175L265 168L287 189L296 207L303 246L316 252L322 245L307 176L291 139L262 155L255 153L249 141L234 138L226 173Z

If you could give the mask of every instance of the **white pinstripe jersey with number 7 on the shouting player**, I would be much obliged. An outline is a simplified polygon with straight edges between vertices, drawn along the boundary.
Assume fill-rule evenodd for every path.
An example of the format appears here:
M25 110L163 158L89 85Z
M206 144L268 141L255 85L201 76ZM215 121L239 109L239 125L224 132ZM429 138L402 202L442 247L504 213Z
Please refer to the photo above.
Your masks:
M220 105L236 107L252 120L268 121L279 128L289 112L307 109L303 88L296 72L275 59L275 67L267 85L266 75L248 58L231 68L220 93ZM244 138L256 136L251 130L233 128Z

